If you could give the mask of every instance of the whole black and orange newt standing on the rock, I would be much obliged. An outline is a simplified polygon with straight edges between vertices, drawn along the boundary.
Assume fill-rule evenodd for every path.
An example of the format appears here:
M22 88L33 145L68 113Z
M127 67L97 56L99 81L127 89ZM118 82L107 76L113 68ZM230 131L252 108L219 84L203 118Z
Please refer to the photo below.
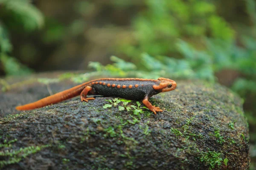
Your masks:
M139 79L139 78L104 78L95 79L89 82L85 82L81 85L77 85L65 91L61 91L57 94L45 97L36 102L32 102L26 105L17 106L17 110L32 110L35 108L42 108L47 105L55 104L75 96L79 96L81 101L88 102L88 100L94 100L95 98L87 95L102 95L102 96L116 96L125 99L141 100L143 104L154 114L162 111L159 107L151 105L148 99L160 92L172 91L176 88L175 81L166 78L158 79Z

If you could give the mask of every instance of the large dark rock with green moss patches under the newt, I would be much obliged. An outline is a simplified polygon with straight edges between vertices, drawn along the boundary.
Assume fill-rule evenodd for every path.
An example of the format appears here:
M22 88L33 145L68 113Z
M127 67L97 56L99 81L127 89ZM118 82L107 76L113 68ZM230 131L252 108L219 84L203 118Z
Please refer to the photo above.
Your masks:
M67 87L68 86L68 87ZM67 85L69 88L70 85ZM52 91L65 84L52 85ZM40 85L1 93L2 115L47 96ZM23 96L25 99L23 99ZM40 97L39 97L40 96ZM13 100L12 100L13 99ZM163 109L103 108L115 97L61 102L0 119L3 169L248 169L249 134L242 101L227 88L177 81L177 89L150 99ZM8 102L7 102L8 101ZM11 102L12 101L12 102ZM136 101L128 102L126 107ZM6 113L8 112L8 113Z

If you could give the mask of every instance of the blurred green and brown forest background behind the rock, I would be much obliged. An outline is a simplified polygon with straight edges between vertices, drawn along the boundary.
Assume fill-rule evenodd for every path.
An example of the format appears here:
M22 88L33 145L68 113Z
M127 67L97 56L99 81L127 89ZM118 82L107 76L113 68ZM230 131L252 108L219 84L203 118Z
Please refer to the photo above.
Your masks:
M256 168L254 0L0 0L2 77L88 66L95 70L88 77L204 79L231 88L244 99Z

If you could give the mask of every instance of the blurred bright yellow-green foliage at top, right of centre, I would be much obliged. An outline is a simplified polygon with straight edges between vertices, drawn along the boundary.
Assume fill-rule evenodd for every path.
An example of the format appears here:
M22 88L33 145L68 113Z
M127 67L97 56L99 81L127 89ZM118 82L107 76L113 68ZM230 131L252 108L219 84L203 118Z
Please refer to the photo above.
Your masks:
M216 14L214 4L204 0L146 0L147 6L133 21L134 40L120 45L121 51L137 59L149 55L175 54L179 38L198 43L205 37L233 40L229 24ZM203 43L201 45L203 45Z

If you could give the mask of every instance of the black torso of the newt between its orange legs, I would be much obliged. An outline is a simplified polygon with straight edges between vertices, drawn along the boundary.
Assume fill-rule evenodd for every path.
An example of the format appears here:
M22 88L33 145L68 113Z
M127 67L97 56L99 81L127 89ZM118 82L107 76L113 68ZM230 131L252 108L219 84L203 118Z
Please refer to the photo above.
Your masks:
M103 85L105 82L105 85ZM108 87L108 83L110 87ZM102 84L94 84L91 87L95 90L96 94L103 96L116 96L125 99L140 100L144 99L145 96L151 97L155 94L160 93L153 88L153 85L159 85L160 82L154 81L137 81L137 80L102 80ZM115 84L115 87L112 85ZM117 85L121 87L118 88ZM126 88L122 88L126 85ZM129 88L132 85L132 88ZM135 85L138 85L136 88Z

